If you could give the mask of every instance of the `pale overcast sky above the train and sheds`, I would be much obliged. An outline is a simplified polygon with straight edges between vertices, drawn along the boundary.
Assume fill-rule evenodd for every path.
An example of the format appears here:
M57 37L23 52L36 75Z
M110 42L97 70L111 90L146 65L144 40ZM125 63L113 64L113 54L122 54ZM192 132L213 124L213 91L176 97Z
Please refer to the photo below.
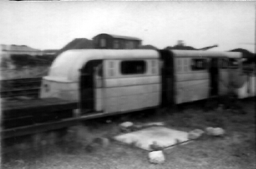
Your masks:
M255 2L55 1L0 2L0 44L61 49L100 33L139 37L163 49L183 40L214 50L255 51Z

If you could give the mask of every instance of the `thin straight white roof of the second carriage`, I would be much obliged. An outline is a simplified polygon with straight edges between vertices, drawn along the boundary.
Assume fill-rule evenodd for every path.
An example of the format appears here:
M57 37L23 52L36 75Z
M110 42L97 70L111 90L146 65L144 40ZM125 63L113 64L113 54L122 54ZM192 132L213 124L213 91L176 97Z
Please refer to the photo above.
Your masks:
M176 57L227 57L241 58L240 52L230 51L192 51L192 50L170 50Z

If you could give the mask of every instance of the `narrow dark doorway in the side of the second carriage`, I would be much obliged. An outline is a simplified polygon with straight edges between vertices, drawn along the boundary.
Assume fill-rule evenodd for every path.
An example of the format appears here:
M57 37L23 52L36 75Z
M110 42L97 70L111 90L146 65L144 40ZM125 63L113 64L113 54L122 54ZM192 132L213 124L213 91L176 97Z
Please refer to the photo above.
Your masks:
M219 94L219 68L218 58L211 58L209 66L210 74L210 96L217 96Z

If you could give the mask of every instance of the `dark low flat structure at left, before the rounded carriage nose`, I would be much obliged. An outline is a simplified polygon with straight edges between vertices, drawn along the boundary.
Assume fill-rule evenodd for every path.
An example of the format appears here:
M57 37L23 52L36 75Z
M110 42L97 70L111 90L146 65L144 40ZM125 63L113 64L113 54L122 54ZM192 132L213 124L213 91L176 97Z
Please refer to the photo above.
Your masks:
M73 119L73 110L76 108L75 101L57 98L3 99L1 138L6 139L69 127L76 121Z

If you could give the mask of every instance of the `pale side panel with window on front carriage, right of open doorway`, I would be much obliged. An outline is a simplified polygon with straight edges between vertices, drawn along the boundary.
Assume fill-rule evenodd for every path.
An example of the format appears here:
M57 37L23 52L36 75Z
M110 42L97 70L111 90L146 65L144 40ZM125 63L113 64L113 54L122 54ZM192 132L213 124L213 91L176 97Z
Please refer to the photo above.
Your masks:
M161 80L158 59L106 60L104 64L106 113L159 105Z

